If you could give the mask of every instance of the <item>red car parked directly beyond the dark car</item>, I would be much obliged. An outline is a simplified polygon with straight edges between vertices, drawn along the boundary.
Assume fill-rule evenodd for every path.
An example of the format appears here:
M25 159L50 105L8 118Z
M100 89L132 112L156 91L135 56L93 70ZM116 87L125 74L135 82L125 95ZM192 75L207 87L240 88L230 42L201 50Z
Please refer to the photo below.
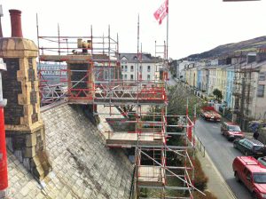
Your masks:
M221 124L221 133L228 140L245 138L244 132L241 131L241 129L237 123L223 122Z

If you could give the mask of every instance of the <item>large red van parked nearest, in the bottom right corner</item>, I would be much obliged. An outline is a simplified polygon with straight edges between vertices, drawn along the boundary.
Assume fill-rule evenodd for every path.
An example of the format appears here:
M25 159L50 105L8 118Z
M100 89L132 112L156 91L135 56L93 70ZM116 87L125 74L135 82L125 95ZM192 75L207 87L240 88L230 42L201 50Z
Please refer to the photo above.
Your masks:
M252 193L252 198L266 198L266 168L252 156L238 156L232 163L234 176Z

